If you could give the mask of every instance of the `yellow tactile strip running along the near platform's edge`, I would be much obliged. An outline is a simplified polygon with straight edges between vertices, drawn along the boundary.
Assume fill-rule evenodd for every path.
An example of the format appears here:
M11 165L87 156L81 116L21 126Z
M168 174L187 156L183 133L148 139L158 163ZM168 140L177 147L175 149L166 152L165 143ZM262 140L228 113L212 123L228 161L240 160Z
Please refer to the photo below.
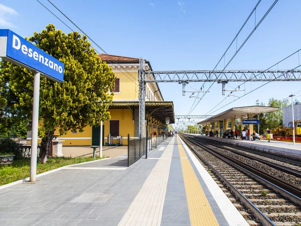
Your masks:
M191 225L219 225L179 138L177 141Z

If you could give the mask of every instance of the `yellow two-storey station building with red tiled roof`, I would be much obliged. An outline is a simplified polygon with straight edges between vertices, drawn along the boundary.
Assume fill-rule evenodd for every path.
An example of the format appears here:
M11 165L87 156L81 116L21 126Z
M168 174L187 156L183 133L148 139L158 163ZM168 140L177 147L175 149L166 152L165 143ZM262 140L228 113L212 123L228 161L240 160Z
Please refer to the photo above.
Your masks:
M103 122L102 127L103 144L108 142L107 137L110 134L119 139L122 137L122 144L127 145L127 134L130 137L139 136L139 59L106 54L98 56L107 62L116 75L113 102L108 109L111 119ZM145 61L145 70L152 70L148 61ZM166 126L167 118L170 124L175 123L173 102L164 101L158 83L145 85L145 110L148 135L162 133L163 130L159 127ZM99 145L100 126L86 127L82 133L69 131L58 139L64 140L63 146Z

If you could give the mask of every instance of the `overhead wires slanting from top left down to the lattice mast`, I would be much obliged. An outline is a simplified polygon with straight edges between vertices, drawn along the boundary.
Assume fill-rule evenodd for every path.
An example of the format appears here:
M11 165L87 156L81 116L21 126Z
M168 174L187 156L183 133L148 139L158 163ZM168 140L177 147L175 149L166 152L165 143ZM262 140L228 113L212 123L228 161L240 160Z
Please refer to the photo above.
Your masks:
M49 10L45 5L43 5L39 0L37 0L37 2L38 3L40 3L46 10L48 10L53 16L55 16L59 21L61 21L66 27L68 27L71 31L73 31L73 32L75 32L73 29L71 29L66 23L64 23L59 17L57 17L51 10ZM90 39L91 40L91 42L93 42L103 53L105 53L105 54L107 54L108 55L108 57L110 57L109 56L109 54L106 52L106 51L104 51L104 49L102 49L93 39L91 39L83 30L81 30L74 22L72 22L62 11L60 11L52 2L50 2L49 0L48 0L48 2L53 6L53 7L55 7L65 18L67 18L76 28L78 28L85 36L87 36L87 38L88 39ZM95 51L98 53L98 54L100 54L100 52L98 52L96 49L95 49ZM117 64L118 66L120 66L121 67L121 65L120 64L118 64L116 61L114 61L114 60L112 60L112 62L114 62L115 64ZM117 68L117 70L119 70L122 74L124 74L123 73L123 71L121 71L119 68ZM134 83L137 83L138 81L137 81L137 78L135 78L134 76L132 76L126 69L123 69L127 74L129 74L131 77L128 77L126 74L124 74L128 79L130 79L132 82L134 82ZM134 80L133 80L134 79Z

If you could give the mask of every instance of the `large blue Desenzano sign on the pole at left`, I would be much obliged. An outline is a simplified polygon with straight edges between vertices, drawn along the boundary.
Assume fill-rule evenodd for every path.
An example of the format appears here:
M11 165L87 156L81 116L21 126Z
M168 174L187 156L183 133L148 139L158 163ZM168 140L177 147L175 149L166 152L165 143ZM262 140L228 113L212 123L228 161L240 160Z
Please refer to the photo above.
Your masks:
M0 57L38 71L54 81L62 82L64 79L61 61L8 29L0 29Z

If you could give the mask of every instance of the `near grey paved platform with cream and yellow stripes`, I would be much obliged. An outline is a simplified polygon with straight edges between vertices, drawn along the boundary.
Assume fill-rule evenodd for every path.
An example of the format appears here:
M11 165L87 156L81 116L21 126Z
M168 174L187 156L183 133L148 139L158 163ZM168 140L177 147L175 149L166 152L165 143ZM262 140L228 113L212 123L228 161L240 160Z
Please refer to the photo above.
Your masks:
M0 187L0 225L248 225L179 137L126 156Z

